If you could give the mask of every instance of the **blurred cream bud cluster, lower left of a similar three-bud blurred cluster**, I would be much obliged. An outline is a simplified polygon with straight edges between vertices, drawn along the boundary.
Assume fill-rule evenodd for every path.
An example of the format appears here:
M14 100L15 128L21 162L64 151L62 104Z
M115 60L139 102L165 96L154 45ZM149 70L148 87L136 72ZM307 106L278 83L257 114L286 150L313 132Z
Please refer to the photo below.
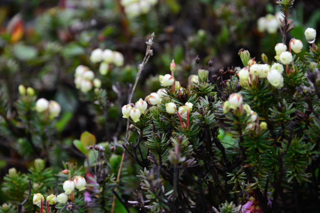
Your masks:
M75 84L77 89L80 89L82 92L88 92L92 89L92 86L100 88L101 80L94 78L94 72L88 67L80 65L76 68Z

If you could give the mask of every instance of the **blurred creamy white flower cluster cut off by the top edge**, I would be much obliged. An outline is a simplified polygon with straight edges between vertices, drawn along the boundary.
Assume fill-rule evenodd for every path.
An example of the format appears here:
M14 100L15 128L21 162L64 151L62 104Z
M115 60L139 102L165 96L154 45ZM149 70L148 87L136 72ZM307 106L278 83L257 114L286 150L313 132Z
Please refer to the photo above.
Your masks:
M121 0L124 12L129 19L150 12L158 0Z

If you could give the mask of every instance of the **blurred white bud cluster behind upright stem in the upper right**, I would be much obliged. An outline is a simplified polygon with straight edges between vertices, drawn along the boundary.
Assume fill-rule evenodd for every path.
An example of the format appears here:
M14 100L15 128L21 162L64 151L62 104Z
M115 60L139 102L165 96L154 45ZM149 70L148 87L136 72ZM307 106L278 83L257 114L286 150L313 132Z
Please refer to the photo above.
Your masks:
M284 16L281 12L277 12L275 15L267 14L265 17L260 17L257 21L258 31L263 33L267 31L268 33L276 33L281 22L284 20Z

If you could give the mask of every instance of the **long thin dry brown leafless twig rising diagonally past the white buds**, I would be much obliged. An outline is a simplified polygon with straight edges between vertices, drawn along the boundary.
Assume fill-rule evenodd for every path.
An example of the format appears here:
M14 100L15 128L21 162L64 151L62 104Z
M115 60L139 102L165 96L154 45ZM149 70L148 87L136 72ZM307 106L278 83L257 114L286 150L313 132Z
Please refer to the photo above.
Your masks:
M136 76L136 80L135 80L135 82L133 84L133 87L132 87L132 90L131 90L131 93L130 93L130 96L129 96L129 99L128 99L128 103L130 103L131 100L132 100L132 96L133 96L134 90L136 89L138 80L140 78L140 75L142 73L142 70L143 70L144 66L147 64L150 56L153 55L153 50L151 49L151 47L153 45L153 38L154 37L155 37L155 33L153 32L151 34L151 36L150 36L150 39L146 42L146 44L147 44L146 54L144 56L144 59L143 59L142 63L138 65L138 73L137 73L137 76ZM129 124L130 123L129 123L129 119L128 119L128 121L127 121L127 130L126 130L126 135L125 135L125 139L126 140L129 139ZM125 156L125 149L123 150L122 157L121 157L120 167L119 167L119 171L118 171L118 175L117 175L117 179L116 179L117 185L115 187L115 191L117 190L118 184L119 184L119 181L120 181L120 175L121 175L121 170L122 170L122 166L123 166L124 156ZM111 213L114 212L115 204L116 204L116 196L114 195L113 196Z

